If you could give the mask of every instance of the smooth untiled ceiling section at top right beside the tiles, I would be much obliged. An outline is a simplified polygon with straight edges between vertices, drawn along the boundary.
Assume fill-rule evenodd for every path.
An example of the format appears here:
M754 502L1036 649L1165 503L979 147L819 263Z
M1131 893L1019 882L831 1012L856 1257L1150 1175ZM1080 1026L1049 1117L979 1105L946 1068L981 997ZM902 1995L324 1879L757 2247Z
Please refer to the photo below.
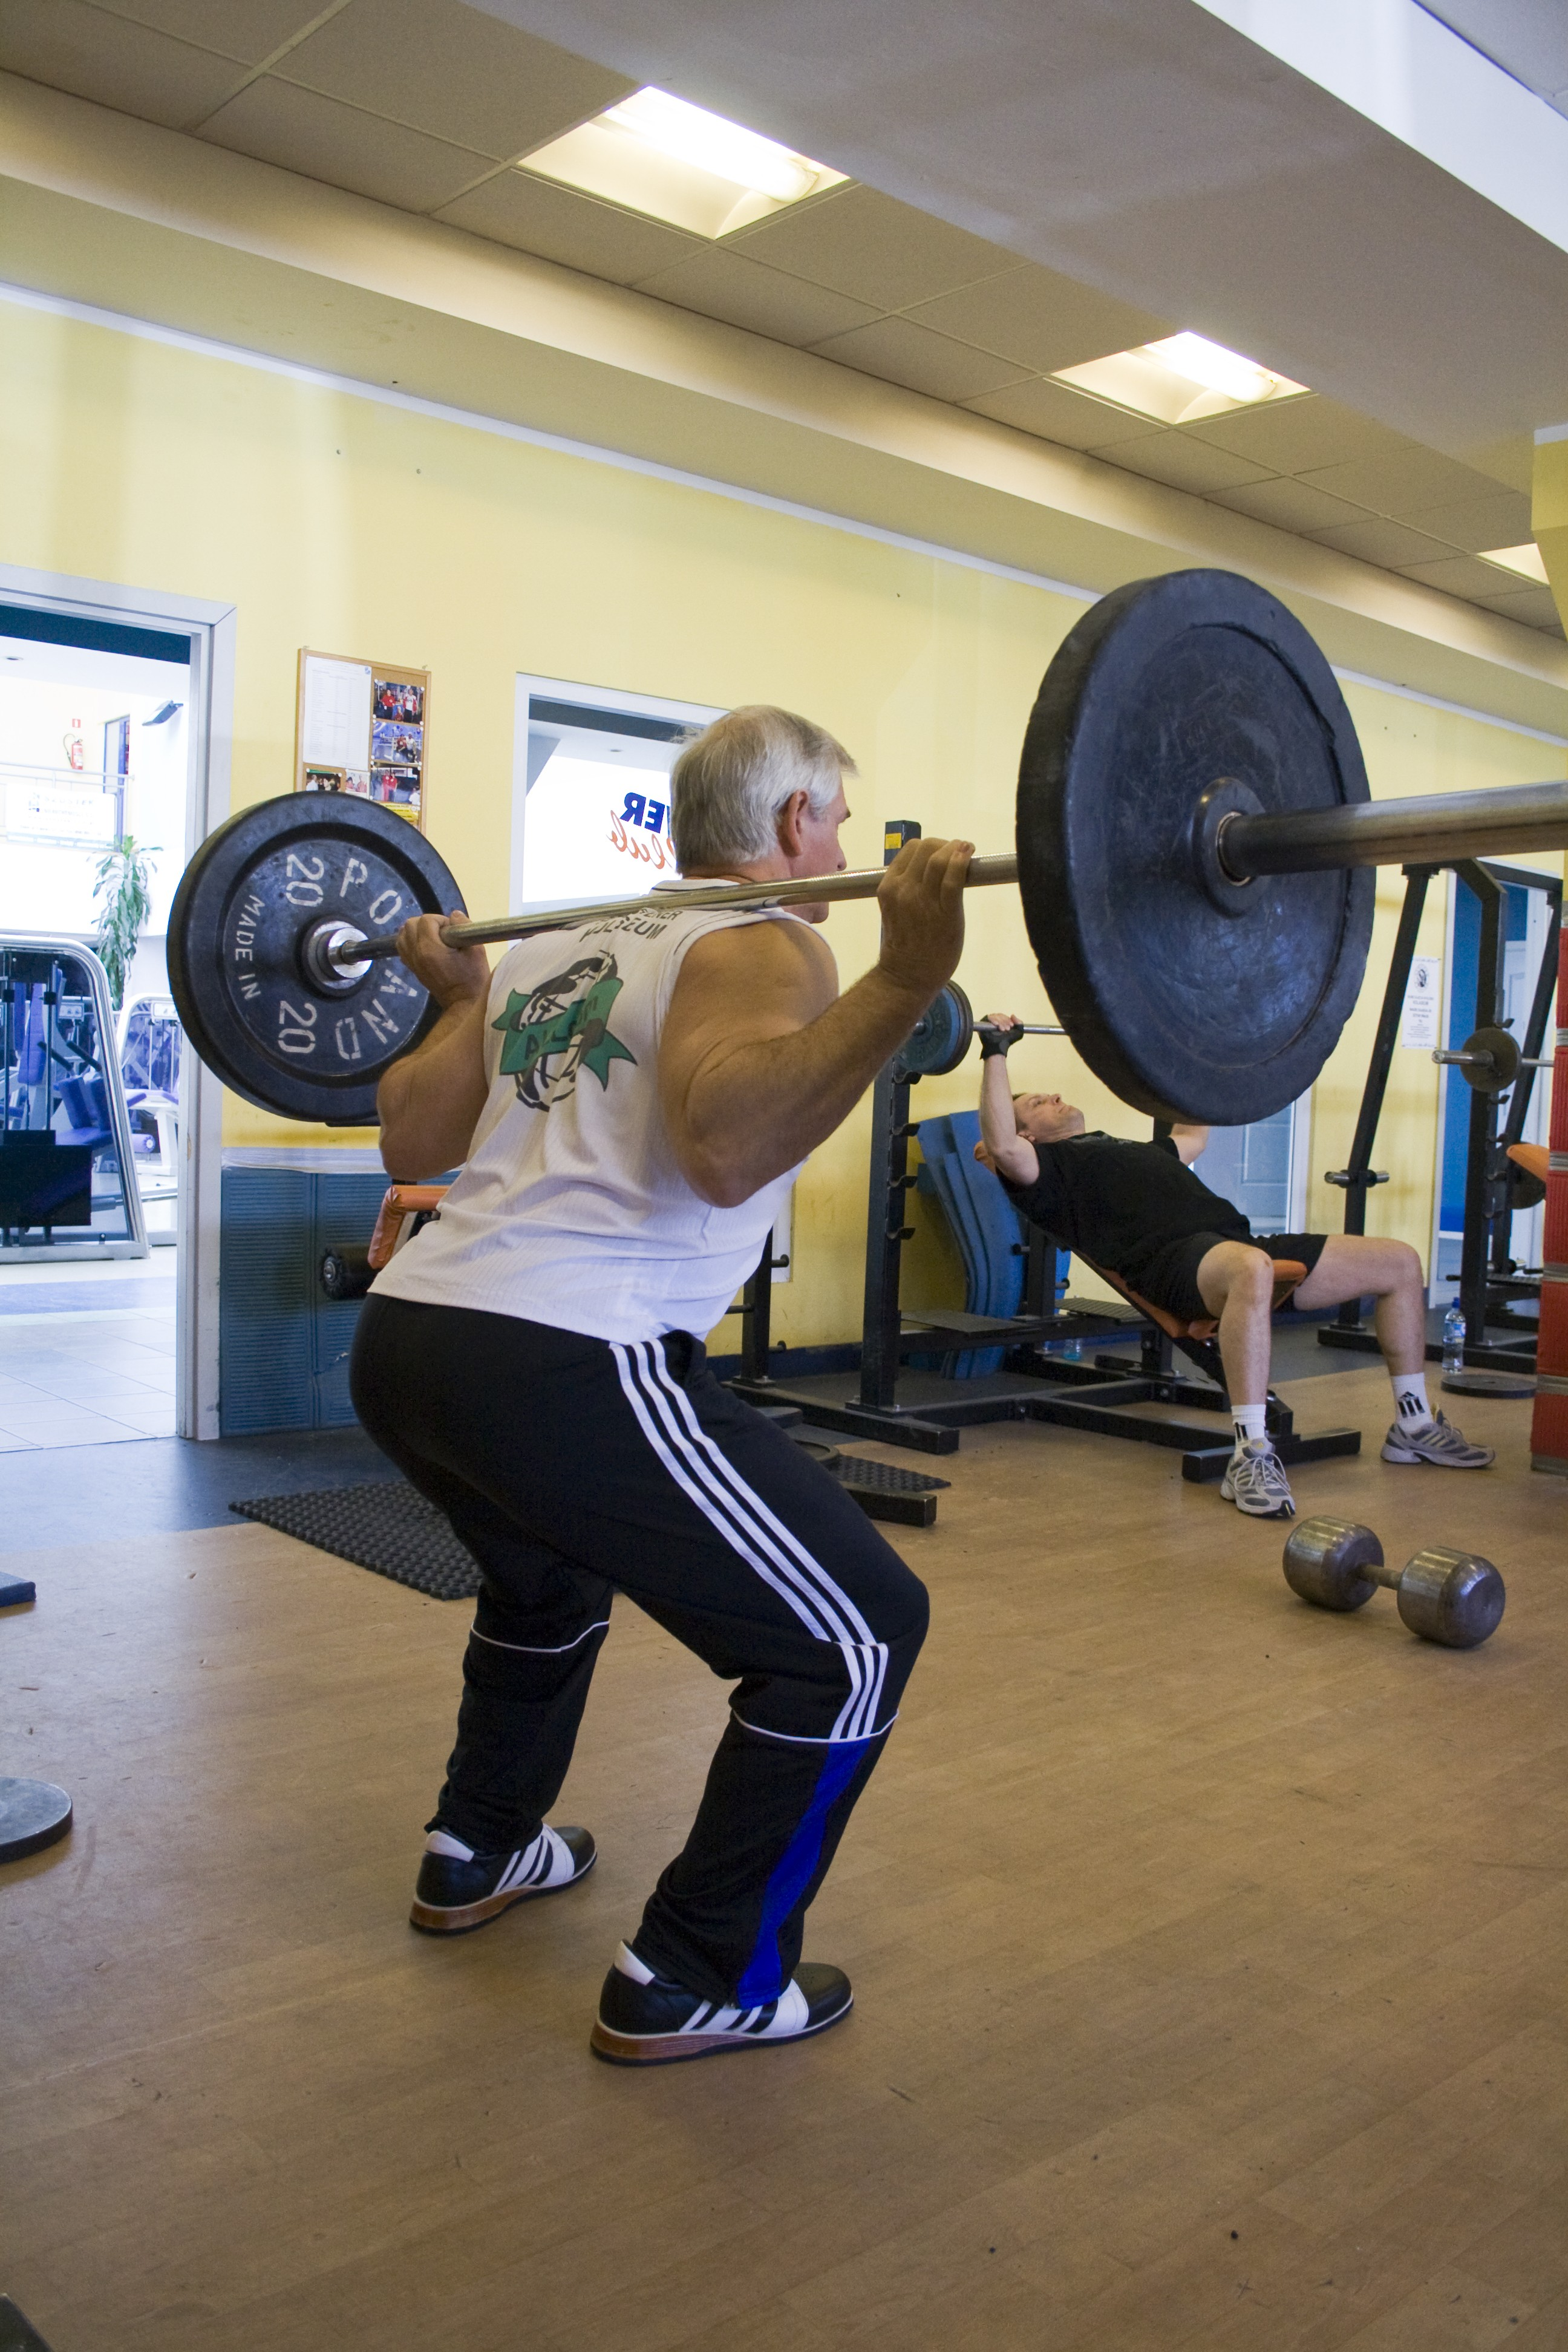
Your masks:
M1568 254L1192 0L480 5L1519 487L1568 407Z

